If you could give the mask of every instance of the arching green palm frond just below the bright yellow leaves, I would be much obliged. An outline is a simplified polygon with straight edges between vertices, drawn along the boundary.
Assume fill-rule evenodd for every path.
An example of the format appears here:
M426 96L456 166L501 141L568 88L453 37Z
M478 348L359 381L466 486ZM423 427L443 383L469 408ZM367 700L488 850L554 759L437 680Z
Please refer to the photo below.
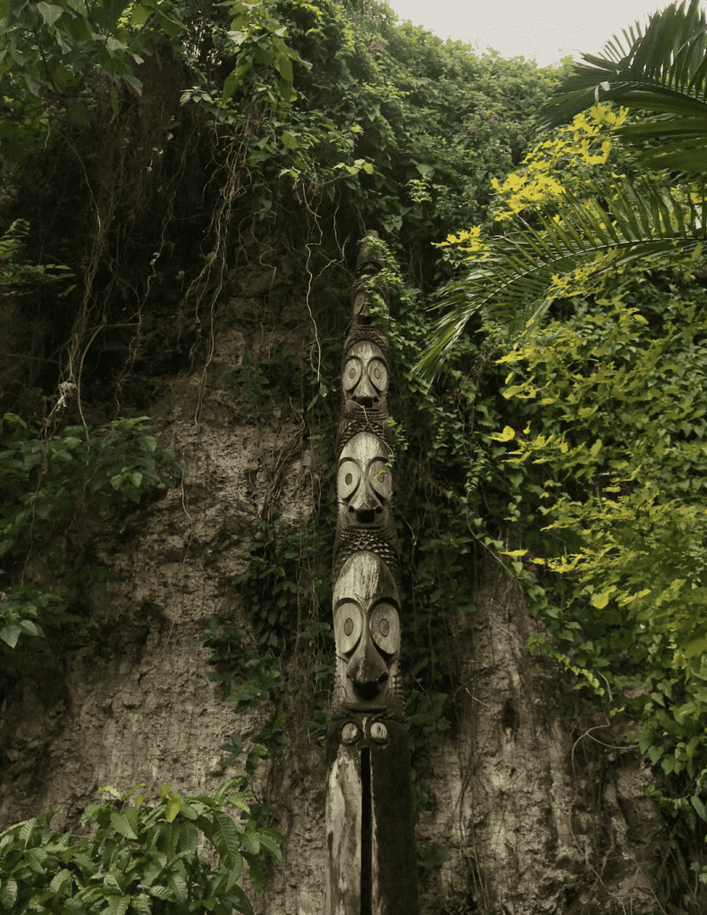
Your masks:
M593 197L567 198L553 217L540 215L542 228L524 226L516 236L491 242L489 256L470 274L447 285L439 307L445 309L417 369L431 378L468 322L479 313L506 325L513 338L537 325L554 297L553 277L612 253L615 270L636 260L690 253L705 238L702 214L707 204L677 199L647 180L614 179L588 188ZM605 202L608 201L608 202ZM559 221L558 221L559 220Z

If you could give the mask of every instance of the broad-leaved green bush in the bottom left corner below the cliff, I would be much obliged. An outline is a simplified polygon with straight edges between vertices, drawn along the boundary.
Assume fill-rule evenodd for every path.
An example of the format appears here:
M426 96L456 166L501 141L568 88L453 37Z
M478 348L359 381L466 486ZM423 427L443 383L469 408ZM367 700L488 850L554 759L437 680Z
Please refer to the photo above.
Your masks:
M282 836L257 823L249 796L238 790L243 781L229 779L213 795L195 797L164 784L154 804L144 794L133 798L143 782L123 793L107 785L99 789L104 799L82 814L92 833L73 840L71 832L50 830L60 808L10 826L0 834L3 910L252 915L237 881L247 863L251 885L261 888L262 860L281 859ZM217 856L213 870L198 854L201 837Z

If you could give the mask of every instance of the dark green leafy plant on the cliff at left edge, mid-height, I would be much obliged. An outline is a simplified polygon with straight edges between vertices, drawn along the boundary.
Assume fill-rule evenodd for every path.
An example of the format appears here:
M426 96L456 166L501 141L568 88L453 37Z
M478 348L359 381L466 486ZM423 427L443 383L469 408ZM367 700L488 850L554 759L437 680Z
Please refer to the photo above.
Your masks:
M31 663L27 639L44 638L48 628L83 619L67 611L78 599L81 582L66 568L58 545L82 511L89 506L111 508L126 500L139 502L150 487L173 485L175 474L189 472L173 451L148 433L147 416L114 420L93 429L67 426L61 435L50 437L41 436L38 428L16 414L3 417L0 560L5 581L0 657L5 679ZM53 587L25 580L34 555L55 571Z

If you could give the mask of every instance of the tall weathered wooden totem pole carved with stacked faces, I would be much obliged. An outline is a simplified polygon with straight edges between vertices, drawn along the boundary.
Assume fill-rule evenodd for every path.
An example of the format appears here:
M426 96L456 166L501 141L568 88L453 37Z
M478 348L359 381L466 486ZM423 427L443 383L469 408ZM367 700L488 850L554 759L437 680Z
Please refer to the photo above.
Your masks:
M390 362L387 335L372 327L365 291L366 281L383 265L380 253L364 244L343 345L325 915L418 912L408 735L398 674L399 564L386 424Z

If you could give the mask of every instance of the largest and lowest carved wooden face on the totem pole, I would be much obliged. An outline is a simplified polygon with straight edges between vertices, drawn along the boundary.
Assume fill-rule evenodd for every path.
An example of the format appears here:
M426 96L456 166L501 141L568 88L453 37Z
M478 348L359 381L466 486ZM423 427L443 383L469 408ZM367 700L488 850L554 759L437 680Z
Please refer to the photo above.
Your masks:
M399 608L385 562L375 553L350 556L334 586L337 673L345 705L385 707L397 673Z

